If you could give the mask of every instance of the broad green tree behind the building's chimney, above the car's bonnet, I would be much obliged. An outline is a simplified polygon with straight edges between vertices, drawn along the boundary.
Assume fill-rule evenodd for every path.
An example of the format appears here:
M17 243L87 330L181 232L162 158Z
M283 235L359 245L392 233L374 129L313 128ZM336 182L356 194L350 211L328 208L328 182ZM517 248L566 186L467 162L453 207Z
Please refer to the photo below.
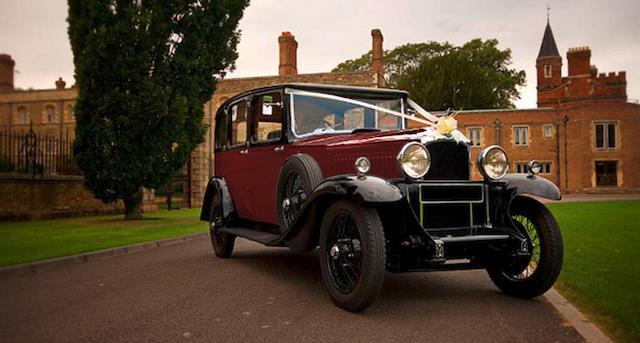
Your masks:
M371 52L338 65L335 71L370 68ZM409 91L430 110L511 108L519 98L525 72L511 68L511 50L495 39L474 39L463 46L417 43L385 52L390 87Z

